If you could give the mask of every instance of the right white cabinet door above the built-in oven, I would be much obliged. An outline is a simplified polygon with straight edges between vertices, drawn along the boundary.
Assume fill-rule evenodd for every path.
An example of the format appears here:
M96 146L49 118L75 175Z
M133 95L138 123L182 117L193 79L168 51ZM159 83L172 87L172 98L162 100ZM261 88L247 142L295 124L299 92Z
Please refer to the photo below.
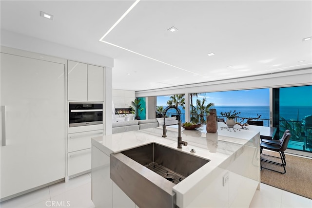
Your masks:
M88 101L104 101L104 68L88 65Z

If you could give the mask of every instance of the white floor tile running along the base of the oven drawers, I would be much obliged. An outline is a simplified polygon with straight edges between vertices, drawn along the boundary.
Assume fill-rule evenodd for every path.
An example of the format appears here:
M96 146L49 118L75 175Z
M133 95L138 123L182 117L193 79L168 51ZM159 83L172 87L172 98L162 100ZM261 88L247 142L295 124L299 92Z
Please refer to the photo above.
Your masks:
M49 187L51 197L75 189L81 185L91 183L91 177L88 173L69 179L67 183L60 182ZM90 188L91 191L91 188Z

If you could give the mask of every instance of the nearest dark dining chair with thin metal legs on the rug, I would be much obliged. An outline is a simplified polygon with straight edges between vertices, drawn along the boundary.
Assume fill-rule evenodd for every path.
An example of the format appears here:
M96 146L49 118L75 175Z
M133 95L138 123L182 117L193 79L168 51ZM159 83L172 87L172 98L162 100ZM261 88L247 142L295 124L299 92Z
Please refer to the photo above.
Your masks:
M274 165L279 165L279 166L283 167L284 172L262 167L262 164L261 164L261 169L263 168L263 169L267 169L267 170L273 170L275 172L279 172L279 173L282 173L282 174L286 173L286 169L285 169L285 166L286 166L286 156L285 156L284 151L287 149L287 145L288 145L288 142L289 142L291 137L292 137L292 134L290 132L287 132L285 134L285 138L283 139L282 143L279 144L279 145L269 144L269 143L266 143L266 142L261 142L261 144L260 144L260 152L261 152L261 154L263 154L263 152L262 152L263 149L278 152L279 153L279 157L276 157L276 156L273 156L273 155L268 155L268 154L263 154L263 155L268 156L270 159L271 158L280 158L281 159L281 163L275 162L273 160L270 160L269 158L265 159L264 157L260 157L260 161L261 162L268 162L268 163L271 163L271 164L274 164Z

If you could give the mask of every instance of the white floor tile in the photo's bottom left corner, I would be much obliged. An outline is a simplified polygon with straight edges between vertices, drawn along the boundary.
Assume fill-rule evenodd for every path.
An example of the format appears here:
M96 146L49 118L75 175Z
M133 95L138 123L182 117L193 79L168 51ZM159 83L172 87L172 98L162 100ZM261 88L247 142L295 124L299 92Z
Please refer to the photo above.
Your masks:
M49 188L45 187L30 193L1 202L1 208L26 208L43 200L50 199Z

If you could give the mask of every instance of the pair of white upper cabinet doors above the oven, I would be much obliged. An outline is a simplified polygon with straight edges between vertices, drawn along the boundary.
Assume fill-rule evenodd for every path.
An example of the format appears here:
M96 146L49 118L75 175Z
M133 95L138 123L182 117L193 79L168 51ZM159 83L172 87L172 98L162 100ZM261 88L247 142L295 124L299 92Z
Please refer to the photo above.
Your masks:
M103 101L104 68L68 60L68 100Z

